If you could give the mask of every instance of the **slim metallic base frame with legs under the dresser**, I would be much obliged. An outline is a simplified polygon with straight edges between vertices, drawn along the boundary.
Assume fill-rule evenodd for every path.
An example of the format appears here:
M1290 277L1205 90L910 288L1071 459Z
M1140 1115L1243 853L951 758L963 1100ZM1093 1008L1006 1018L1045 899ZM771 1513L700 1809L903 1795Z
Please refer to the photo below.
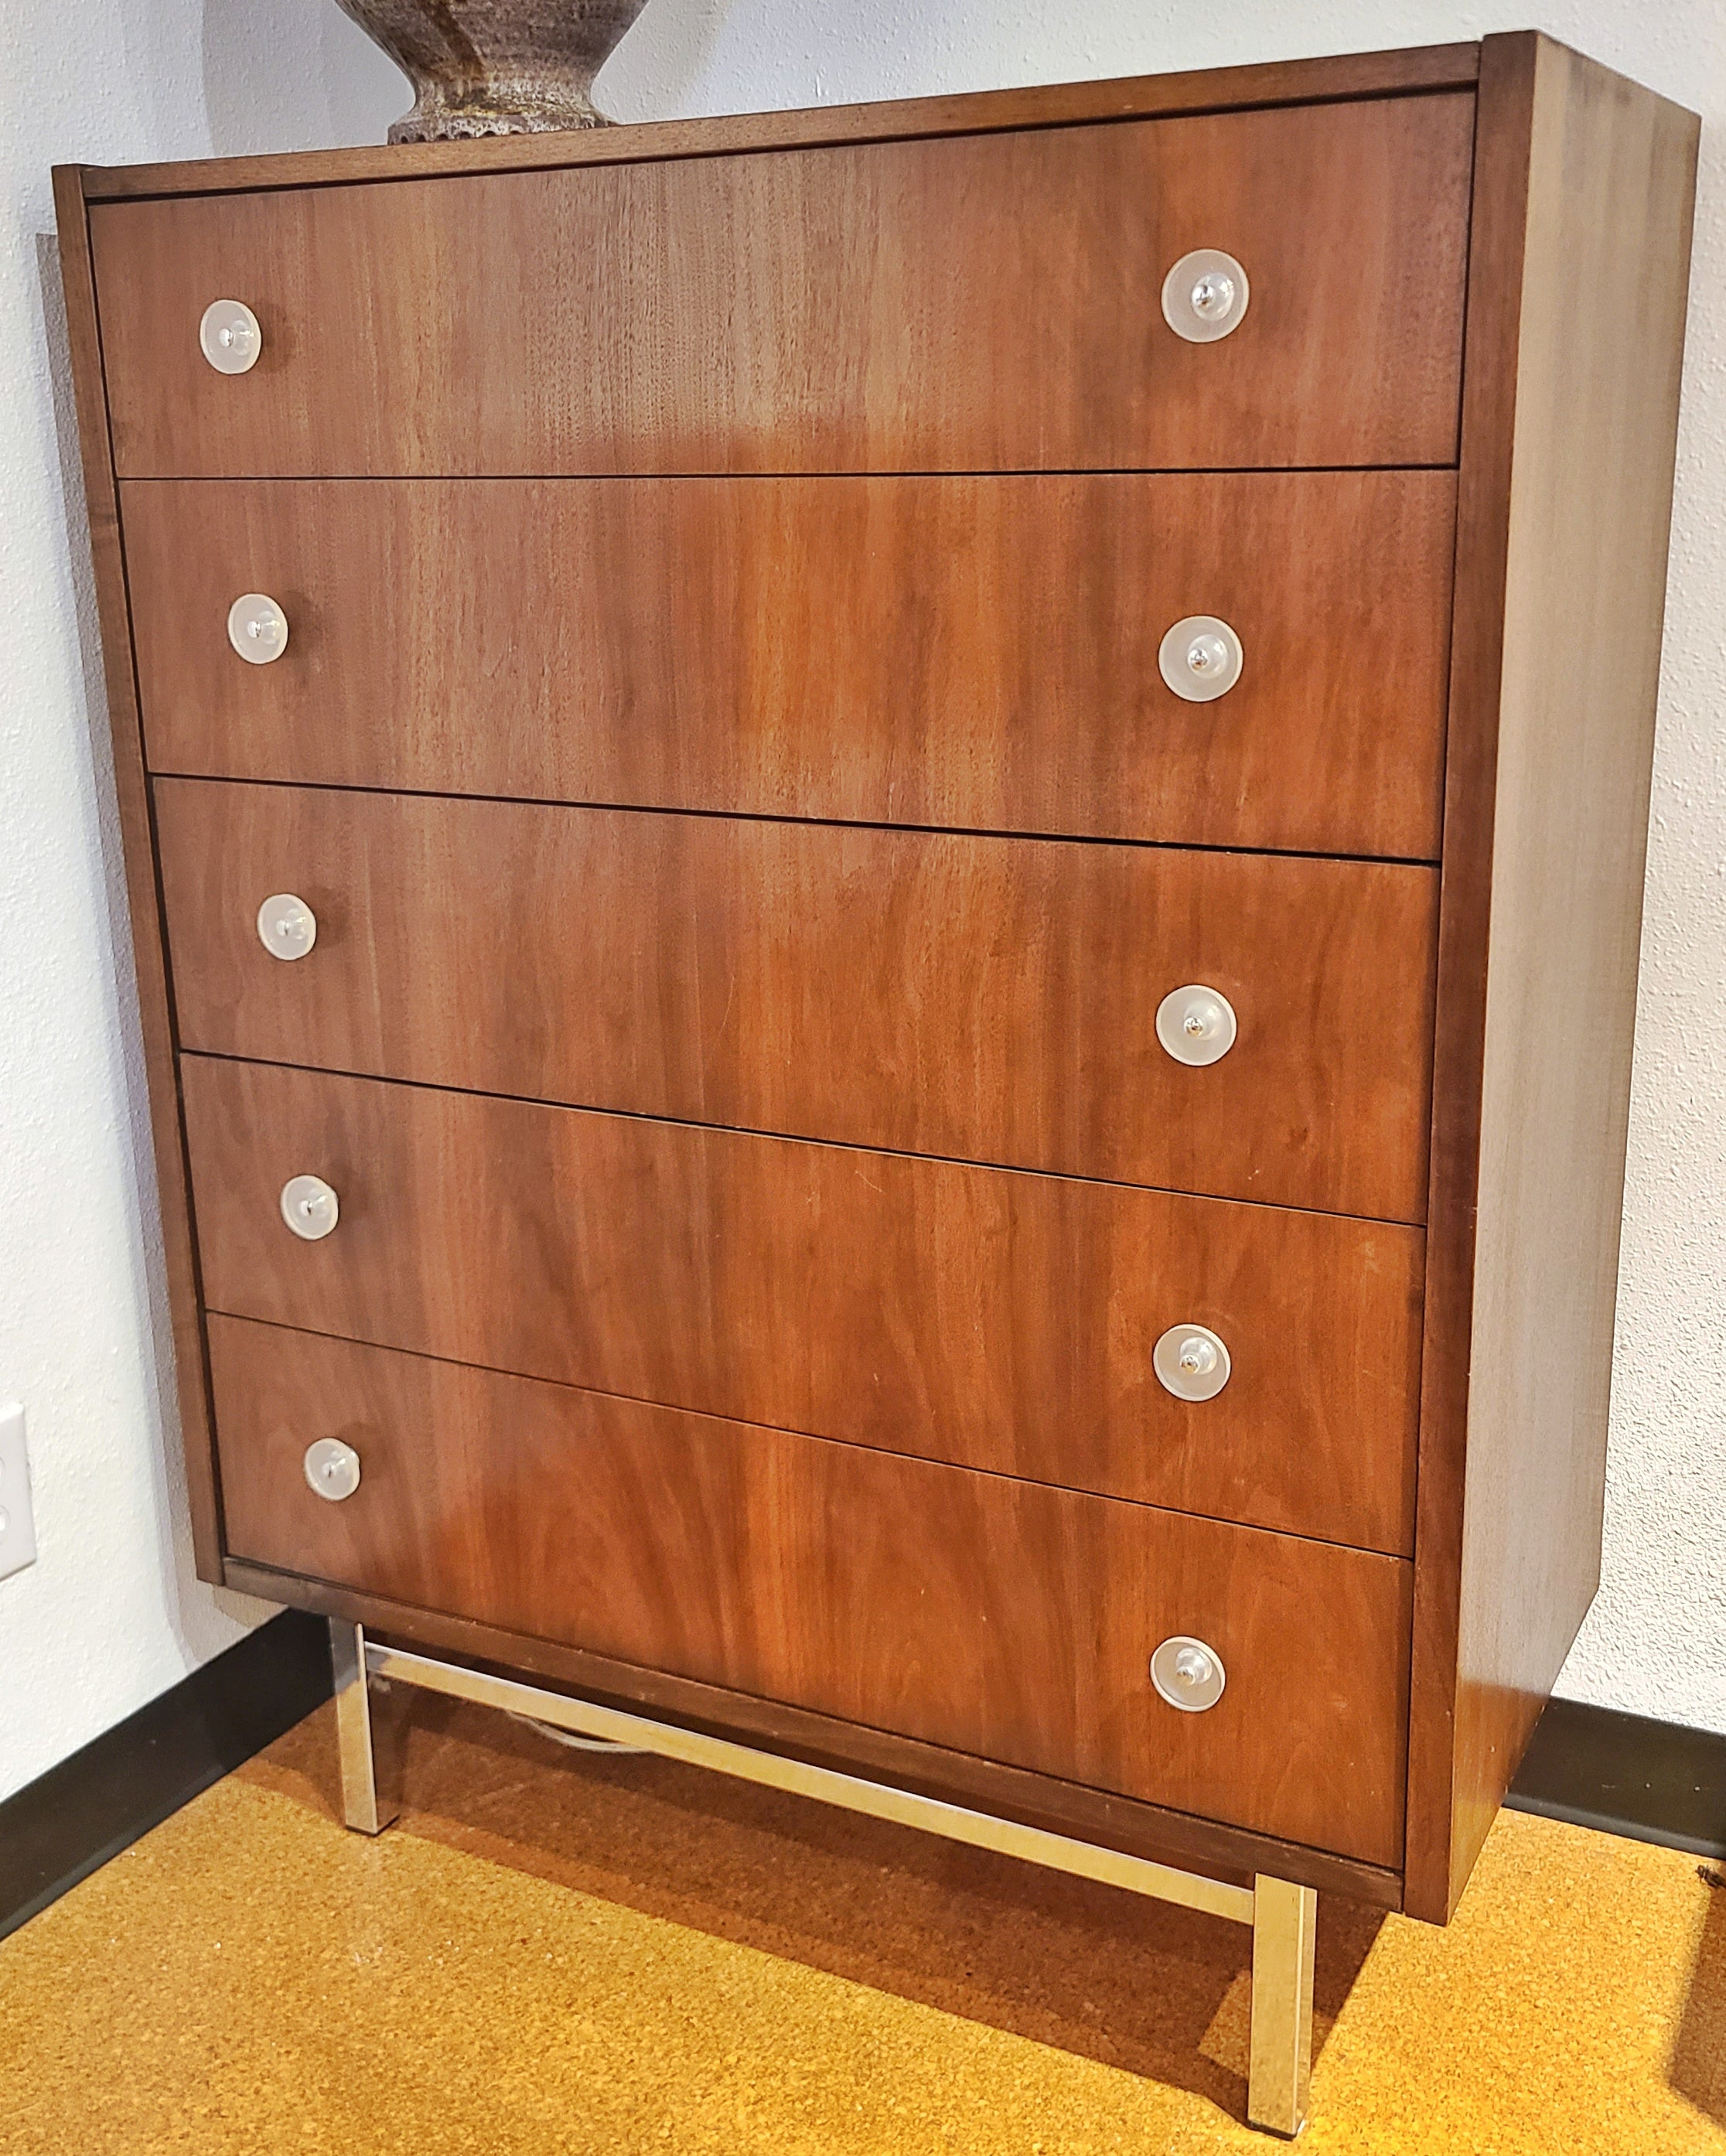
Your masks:
M554 1729L571 1729L584 1738L601 1738L634 1751L705 1766L718 1774L784 1789L791 1796L812 1796L823 1805L892 1820L896 1826L918 1826L948 1841L968 1841L978 1850L998 1850L1032 1865L1049 1865L1077 1878L1125 1887L1155 1902L1179 1902L1183 1908L1230 1923L1252 1925L1252 2068L1248 2078L1248 2119L1276 2134L1297 2134L1306 2124L1308 2078L1312 2072L1312 1938L1319 1897L1310 1887L1258 1874L1252 1887L1205 1878L1200 1871L1179 1871L1127 1856L1090 1841L996 1820L963 1805L944 1805L933 1796L894 1789L888 1783L862 1781L836 1768L808 1766L780 1753L754 1751L728 1738L709 1738L672 1723L653 1723L640 1714L623 1714L567 1692L547 1692L515 1677L493 1677L459 1662L437 1662L401 1647L379 1647L364 1628L330 1619L330 1658L336 1675L336 1740L340 1746L343 1809L347 1824L362 1835L379 1835L396 1818L379 1800L379 1761L373 1742L371 1697L366 1677L392 1684L414 1684L450 1699L472 1699L483 1708L504 1708Z

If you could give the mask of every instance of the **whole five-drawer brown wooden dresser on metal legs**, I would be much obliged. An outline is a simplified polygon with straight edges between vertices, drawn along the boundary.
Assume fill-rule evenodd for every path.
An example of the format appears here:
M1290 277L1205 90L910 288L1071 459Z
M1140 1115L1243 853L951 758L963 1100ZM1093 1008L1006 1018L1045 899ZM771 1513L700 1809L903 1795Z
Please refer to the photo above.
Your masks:
M1521 34L58 175L356 1824L373 1669L1185 1895L1299 2124L1597 1580L1694 153Z

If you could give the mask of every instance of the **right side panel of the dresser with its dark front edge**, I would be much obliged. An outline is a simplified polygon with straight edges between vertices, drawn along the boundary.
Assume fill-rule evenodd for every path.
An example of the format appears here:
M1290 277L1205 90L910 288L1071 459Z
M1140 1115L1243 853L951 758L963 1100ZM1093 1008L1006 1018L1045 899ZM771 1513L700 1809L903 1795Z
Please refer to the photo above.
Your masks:
M1487 39L1420 1438L1409 1910L1595 1595L1696 119Z

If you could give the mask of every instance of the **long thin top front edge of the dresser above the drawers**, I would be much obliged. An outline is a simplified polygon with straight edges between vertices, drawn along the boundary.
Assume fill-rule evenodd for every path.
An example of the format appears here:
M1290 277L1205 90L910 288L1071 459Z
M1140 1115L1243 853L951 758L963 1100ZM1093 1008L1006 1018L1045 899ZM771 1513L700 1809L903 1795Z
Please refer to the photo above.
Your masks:
M75 166L73 170L91 203L261 188L328 188L377 179L532 172L659 157L724 157L741 151L815 149L834 142L991 134L1019 127L1069 127L1088 121L1398 97L1472 88L1478 73L1478 43L1420 45L1401 52L1276 60L1261 67L1215 67L1172 75L911 97L890 103L823 106L804 112L741 112L590 132L491 136L481 142L414 142L259 157L203 157L179 164Z

